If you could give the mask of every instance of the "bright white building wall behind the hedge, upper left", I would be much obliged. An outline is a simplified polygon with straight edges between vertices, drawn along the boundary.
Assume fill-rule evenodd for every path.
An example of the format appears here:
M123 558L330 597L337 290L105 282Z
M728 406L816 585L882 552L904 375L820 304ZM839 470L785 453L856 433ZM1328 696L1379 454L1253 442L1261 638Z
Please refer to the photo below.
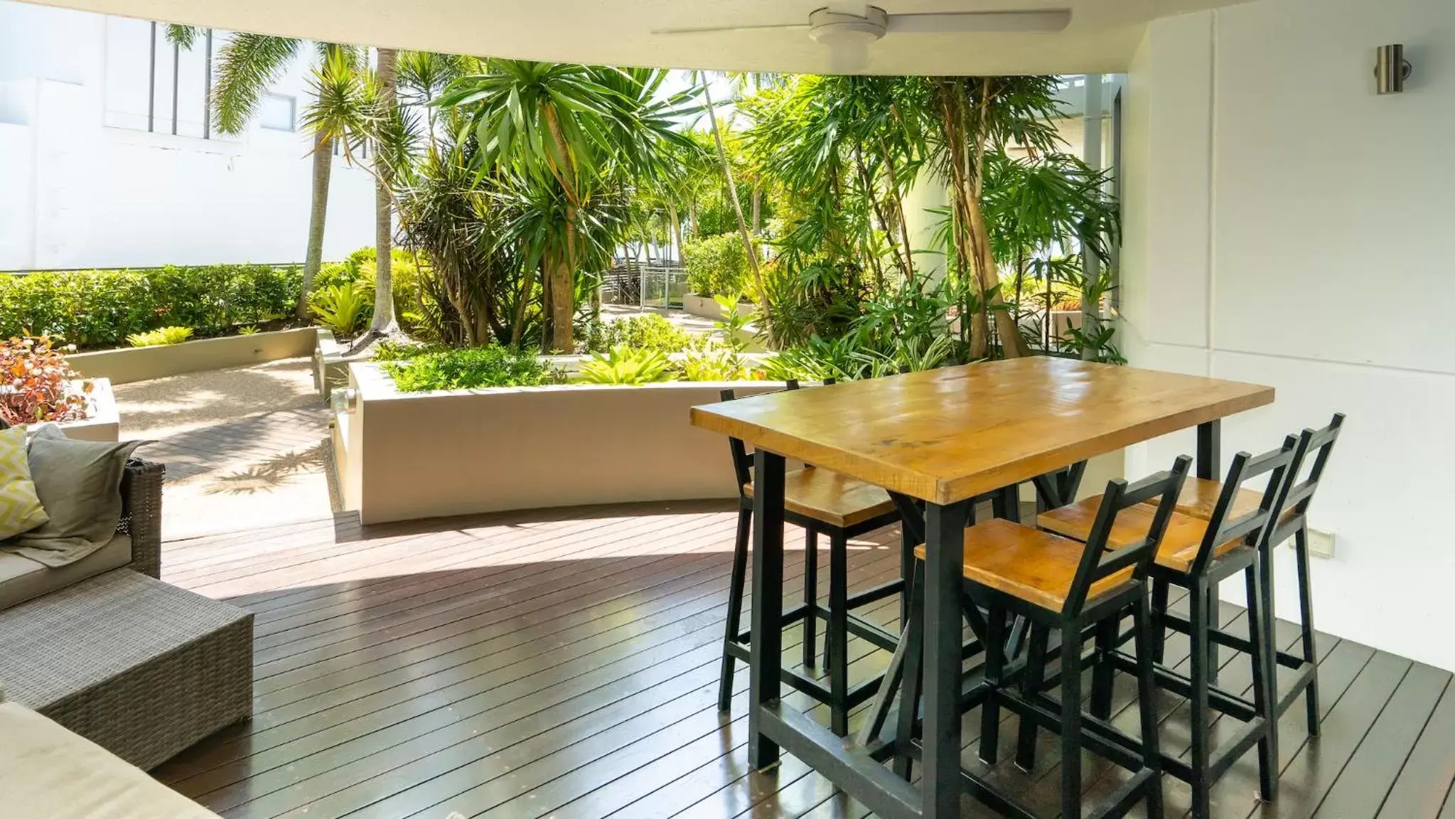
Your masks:
M311 193L303 132L253 122L202 138L205 51L159 26L0 0L0 271L301 262ZM214 54L226 33L214 38ZM308 102L311 47L272 92ZM335 160L324 257L374 241L372 177Z

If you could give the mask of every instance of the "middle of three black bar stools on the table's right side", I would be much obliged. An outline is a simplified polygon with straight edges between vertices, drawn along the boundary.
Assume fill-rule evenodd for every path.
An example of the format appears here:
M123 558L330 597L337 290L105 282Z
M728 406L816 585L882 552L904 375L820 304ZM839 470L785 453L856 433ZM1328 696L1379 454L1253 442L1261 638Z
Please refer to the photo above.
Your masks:
M1192 786L1192 813L1199 819L1209 815L1212 784L1254 745L1259 746L1260 794L1264 800L1272 800L1277 791L1277 719L1272 706L1275 692L1272 652L1276 646L1272 633L1272 601L1260 554L1264 535L1277 516L1279 498L1285 492L1295 447L1296 439L1289 436L1280 448L1259 457L1238 452L1232 458L1209 518L1173 512L1151 567L1155 580L1187 589L1190 614L1186 620L1152 610L1151 621L1158 642L1163 628L1171 627L1186 633L1192 643L1189 675L1177 674L1160 665L1160 660L1155 674L1158 685L1189 698L1192 762L1168 756L1163 759L1163 770ZM1241 489L1243 483L1264 476L1267 486L1257 493L1251 508L1240 508L1237 503L1240 492L1253 498L1251 490ZM1186 496L1186 487L1181 496ZM1043 512L1037 516L1037 522L1043 530L1090 543L1096 535L1099 503L1099 498L1088 498ZM1154 516L1163 511L1148 506L1129 509L1109 532L1107 543L1115 548L1141 540L1148 528L1155 525ZM1247 583L1247 640L1218 628L1218 583L1238 572L1244 575ZM1119 620L1120 617L1113 617L1103 621L1096 633L1091 711L1099 719L1112 716L1112 685L1116 669L1136 669L1136 662L1117 650L1117 644L1125 639L1119 633ZM1209 647L1213 643L1250 655L1254 681L1251 703L1213 684L1209 668L1213 656ZM1238 733L1219 748L1211 746L1211 708L1244 722ZM1023 742L1020 754L1026 762L1032 759L1033 749Z

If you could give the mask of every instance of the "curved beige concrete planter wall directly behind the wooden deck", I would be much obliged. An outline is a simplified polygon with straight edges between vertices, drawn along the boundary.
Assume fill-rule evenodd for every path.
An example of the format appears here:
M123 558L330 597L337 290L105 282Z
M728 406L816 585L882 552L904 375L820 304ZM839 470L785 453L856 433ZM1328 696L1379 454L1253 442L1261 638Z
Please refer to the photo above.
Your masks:
M728 442L688 409L781 383L566 384L400 393L351 364L335 416L343 505L362 522L631 500L732 498ZM338 401L345 403L345 401Z

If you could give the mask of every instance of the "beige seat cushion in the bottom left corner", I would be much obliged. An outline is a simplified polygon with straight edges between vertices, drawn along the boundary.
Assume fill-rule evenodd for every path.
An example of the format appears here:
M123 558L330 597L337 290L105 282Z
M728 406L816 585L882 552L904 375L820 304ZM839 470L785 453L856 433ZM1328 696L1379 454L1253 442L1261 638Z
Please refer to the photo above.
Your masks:
M6 819L199 819L217 815L17 703L0 703Z

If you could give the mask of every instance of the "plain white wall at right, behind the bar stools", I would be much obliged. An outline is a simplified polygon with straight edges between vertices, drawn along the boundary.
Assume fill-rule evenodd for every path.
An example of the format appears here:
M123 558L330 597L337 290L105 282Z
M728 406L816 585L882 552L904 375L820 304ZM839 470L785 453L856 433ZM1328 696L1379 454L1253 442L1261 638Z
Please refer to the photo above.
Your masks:
M1414 74L1376 96L1390 42ZM1224 423L1225 458L1347 413L1311 512L1337 537L1314 564L1317 626L1455 669L1455 3L1260 0L1158 20L1126 102L1129 359L1277 388ZM1128 468L1192 448L1190 432L1163 439ZM1291 557L1279 614L1296 620Z

